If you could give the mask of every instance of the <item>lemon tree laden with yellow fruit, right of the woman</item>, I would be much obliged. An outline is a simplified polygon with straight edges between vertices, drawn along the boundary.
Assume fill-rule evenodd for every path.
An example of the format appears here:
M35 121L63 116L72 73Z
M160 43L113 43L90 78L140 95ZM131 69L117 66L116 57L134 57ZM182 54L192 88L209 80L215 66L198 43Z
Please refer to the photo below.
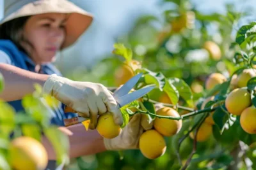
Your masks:
M164 21L152 15L138 18L131 31L113 45L112 55L100 61L86 77L118 88L142 73L134 90L155 85L146 96L121 108L124 124L120 129L134 114L148 118L148 122L141 123L150 125L141 135L140 149L98 153L92 162L86 157L77 159L77 166L254 167L255 23L242 25L232 38L234 24L245 15L234 11L232 4L227 4L228 12L223 15L200 13L189 7L190 1L166 0L163 4L176 7L164 11ZM211 24L216 24L216 34L207 29ZM101 69L105 74L95 76L102 73ZM112 123L102 124L102 129L112 127Z

